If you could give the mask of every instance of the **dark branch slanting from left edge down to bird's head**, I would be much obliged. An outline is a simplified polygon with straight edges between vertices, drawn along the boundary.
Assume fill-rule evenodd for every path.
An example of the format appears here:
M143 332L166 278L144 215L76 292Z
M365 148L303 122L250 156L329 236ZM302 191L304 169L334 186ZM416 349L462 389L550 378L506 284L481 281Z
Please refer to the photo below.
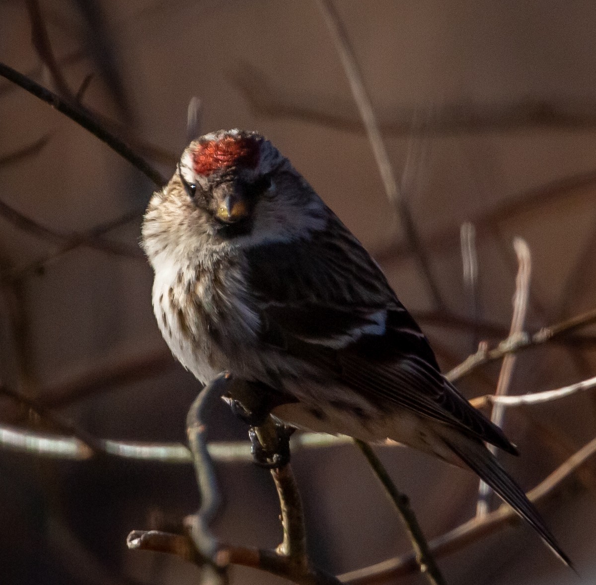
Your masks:
M39 83L33 81L33 79L19 73L12 67L8 67L8 65L4 63L0 63L0 76L16 83L30 94L35 95L35 97L50 104L54 109L58 110L58 112L63 113L79 126L82 126L82 128L91 132L91 134L107 144L107 146L114 150L114 152L120 154L123 159L128 160L128 162L141 171L145 177L153 181L157 187L162 187L162 185L166 184L166 179L164 179L156 169L154 169L145 159L138 156L128 144L111 134L111 132L108 132L103 125L95 120L93 114L85 107L80 104L64 101L54 92L49 91L49 89L39 85Z

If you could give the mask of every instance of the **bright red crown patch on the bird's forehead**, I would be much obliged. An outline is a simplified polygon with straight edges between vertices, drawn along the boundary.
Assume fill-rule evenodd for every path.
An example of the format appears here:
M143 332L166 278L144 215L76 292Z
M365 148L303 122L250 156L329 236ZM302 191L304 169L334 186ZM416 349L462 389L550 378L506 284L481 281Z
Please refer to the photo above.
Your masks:
M259 164L259 143L252 137L225 136L198 145L193 153L193 168L197 175L236 165L254 168Z

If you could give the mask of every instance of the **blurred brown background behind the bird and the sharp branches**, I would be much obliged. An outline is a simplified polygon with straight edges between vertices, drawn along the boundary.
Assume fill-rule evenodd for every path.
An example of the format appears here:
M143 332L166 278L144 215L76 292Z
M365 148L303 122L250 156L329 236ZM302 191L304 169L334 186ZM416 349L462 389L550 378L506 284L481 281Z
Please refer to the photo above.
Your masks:
M79 100L164 177L187 142L193 97L204 132L265 134L378 259L445 370L479 341L493 346L507 337L516 236L532 253L526 330L593 309L596 4L336 0L335 7L400 201L387 198L314 0L3 0L0 60ZM0 80L0 380L94 437L183 442L199 390L170 357L151 309L153 274L138 241L153 189L85 129ZM466 222L474 226L467 249L475 250L477 271L464 279ZM510 394L594 376L595 333L584 327L520 354ZM459 386L468 397L492 394L498 374L499 363L489 364ZM522 456L502 455L502 462L524 488L534 487L595 437L595 414L589 391L509 408L505 430ZM0 395L0 425L67 434L7 395ZM209 437L244 439L246 428L221 404ZM378 453L429 538L474 515L472 473L405 448ZM320 567L341 573L410 550L351 445L299 451L293 465ZM269 473L229 463L218 465L218 477L225 496L218 536L276 546L281 528ZM446 580L593 583L595 488L589 460L539 504L579 577L516 524L439 558ZM4 449L0 493L3 583L198 582L192 565L125 543L133 529L179 530L194 512L189 465ZM232 571L232 583L281 582Z

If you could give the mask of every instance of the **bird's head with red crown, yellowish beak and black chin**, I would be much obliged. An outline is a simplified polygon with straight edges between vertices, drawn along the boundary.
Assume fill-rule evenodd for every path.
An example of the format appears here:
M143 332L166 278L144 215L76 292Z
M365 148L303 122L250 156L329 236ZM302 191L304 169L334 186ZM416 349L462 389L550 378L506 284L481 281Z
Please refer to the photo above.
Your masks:
M289 241L324 227L326 209L266 138L222 130L193 141L170 182L154 194L144 248L151 258L166 248L188 256L209 246Z

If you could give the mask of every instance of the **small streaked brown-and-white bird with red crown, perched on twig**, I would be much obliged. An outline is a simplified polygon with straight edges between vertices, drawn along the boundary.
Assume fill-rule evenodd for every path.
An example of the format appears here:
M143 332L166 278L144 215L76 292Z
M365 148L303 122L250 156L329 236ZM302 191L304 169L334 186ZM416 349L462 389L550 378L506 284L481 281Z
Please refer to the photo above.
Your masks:
M294 428L470 468L572 566L486 444L516 447L443 376L377 262L263 135L192 141L150 199L142 247L159 329L201 383L228 372Z

